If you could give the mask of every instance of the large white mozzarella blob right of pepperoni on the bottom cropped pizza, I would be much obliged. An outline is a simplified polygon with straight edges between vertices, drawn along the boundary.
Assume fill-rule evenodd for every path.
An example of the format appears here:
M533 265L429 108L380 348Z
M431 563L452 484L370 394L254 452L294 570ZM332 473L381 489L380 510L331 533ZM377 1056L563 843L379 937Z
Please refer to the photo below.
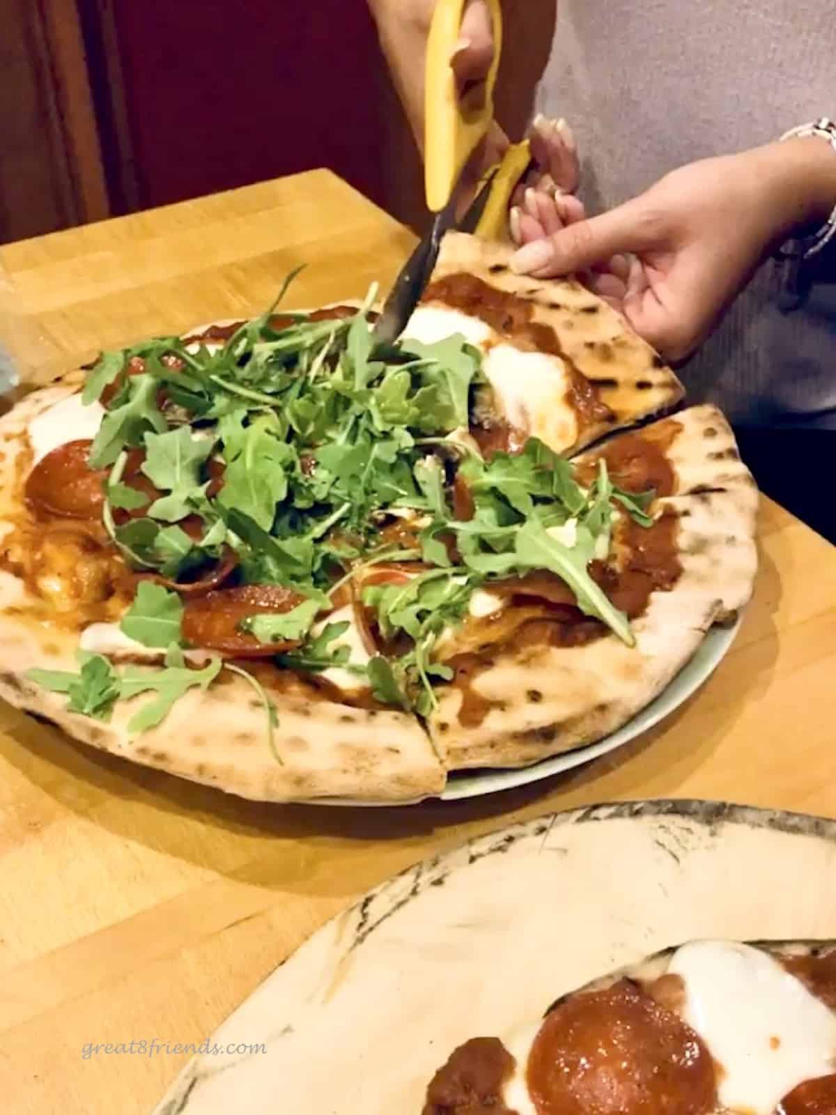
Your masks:
M694 941L668 970L686 986L682 1018L721 1066L725 1107L771 1115L804 1080L833 1073L836 1015L767 953Z

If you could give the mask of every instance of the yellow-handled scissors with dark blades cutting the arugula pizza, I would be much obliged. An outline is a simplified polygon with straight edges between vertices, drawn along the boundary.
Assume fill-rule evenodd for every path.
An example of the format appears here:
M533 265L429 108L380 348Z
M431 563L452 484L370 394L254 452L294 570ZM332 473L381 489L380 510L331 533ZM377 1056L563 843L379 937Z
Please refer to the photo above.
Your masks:
M494 88L502 50L499 0L487 0L494 22L494 59L477 108L458 96L453 58L460 37L465 0L437 0L427 40L425 104L425 186L432 225L410 255L389 293L375 326L378 346L391 345L402 332L427 285L446 232L456 224L458 185L465 164L487 135L494 118ZM531 162L527 140L512 145L502 163L484 177L476 200L459 229L487 240L499 240L511 195Z

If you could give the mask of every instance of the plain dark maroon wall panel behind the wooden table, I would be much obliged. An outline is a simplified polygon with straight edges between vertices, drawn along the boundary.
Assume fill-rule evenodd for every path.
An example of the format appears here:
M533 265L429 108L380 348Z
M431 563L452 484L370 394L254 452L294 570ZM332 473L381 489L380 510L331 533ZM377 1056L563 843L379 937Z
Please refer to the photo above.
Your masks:
M364 0L114 0L140 207L330 166L381 196Z

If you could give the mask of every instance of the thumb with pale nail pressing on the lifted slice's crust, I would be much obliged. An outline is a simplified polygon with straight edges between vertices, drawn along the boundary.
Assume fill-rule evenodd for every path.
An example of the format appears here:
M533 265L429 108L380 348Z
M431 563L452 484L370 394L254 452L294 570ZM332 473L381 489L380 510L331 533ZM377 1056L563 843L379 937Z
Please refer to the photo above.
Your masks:
M659 224L655 221L652 224L658 235ZM644 251L653 240L645 207L641 198L633 198L600 216L577 221L552 236L526 244L512 256L511 266L517 274L564 275L606 263L622 252Z

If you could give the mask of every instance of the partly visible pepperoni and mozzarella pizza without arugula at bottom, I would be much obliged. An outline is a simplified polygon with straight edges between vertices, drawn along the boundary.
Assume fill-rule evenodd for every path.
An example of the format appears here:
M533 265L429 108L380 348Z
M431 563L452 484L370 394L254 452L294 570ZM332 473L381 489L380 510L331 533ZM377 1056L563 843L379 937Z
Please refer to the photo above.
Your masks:
M833 1115L836 944L690 941L466 1041L424 1115Z

